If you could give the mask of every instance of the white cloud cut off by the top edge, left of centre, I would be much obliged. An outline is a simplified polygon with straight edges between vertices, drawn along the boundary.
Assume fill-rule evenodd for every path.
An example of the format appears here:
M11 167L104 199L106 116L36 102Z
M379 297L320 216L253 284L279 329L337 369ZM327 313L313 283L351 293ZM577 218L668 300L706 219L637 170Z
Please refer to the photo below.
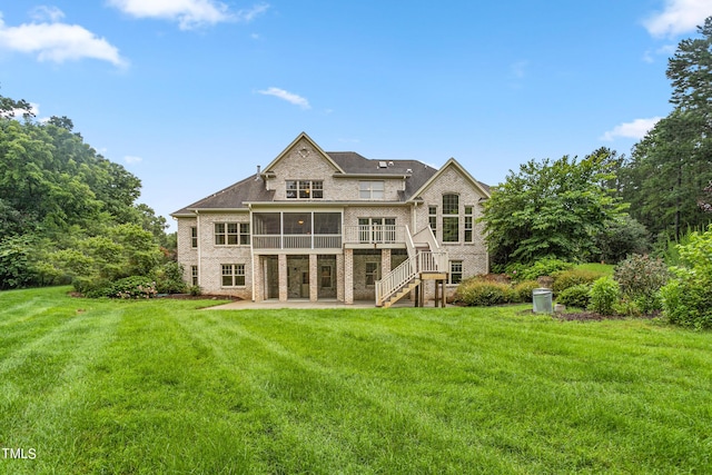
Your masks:
M136 18L177 21L181 30L226 21L249 22L269 8L259 3L233 13L227 4L217 0L109 0L109 3Z

